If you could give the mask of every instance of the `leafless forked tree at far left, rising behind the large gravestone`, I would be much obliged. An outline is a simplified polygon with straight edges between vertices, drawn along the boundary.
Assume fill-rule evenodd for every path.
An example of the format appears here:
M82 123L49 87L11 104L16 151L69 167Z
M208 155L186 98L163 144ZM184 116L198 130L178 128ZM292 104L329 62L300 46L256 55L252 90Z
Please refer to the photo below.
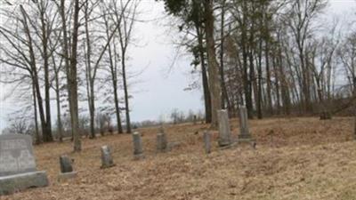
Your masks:
M15 9L7 13L9 20L14 24L4 26L0 34L4 36L5 41L9 44L10 49L4 50L5 57L1 59L7 66L25 70L29 73L35 86L36 102L44 135L44 141L53 141L51 126L51 104L50 104L50 76L49 76L49 58L53 50L48 48L49 41L53 32L53 23L55 12L51 10L52 6L47 1L39 1L36 4L20 3L20 12ZM32 15L38 13L40 20L34 20ZM38 63L44 60L43 68L38 67ZM41 69L44 74L41 74ZM41 93L41 81L44 80L44 99ZM43 103L44 100L44 103ZM45 107L45 108L44 108Z

